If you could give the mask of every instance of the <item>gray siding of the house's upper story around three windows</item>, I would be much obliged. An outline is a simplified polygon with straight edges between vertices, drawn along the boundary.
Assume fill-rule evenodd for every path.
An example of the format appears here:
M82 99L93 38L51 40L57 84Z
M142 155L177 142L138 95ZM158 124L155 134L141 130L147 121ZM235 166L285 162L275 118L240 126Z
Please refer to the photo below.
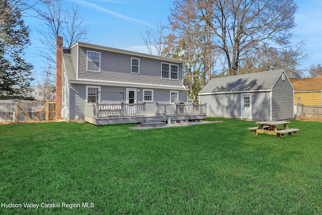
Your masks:
M108 51L97 51L101 53L101 71L87 71L87 51L89 49L79 47L78 78L86 80L111 81L136 84L164 85L172 87L182 87L183 70L180 63L178 65L178 80L162 79L161 64L170 63L163 60L136 57L134 55L120 54ZM139 74L131 73L131 57L140 59Z

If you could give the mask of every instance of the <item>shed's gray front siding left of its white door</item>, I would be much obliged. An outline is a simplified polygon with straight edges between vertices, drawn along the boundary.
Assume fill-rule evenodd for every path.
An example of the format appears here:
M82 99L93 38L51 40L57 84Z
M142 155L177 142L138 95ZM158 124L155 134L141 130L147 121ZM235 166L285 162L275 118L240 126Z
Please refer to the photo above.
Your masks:
M215 94L200 96L200 103L207 103L207 116L240 118L240 94Z

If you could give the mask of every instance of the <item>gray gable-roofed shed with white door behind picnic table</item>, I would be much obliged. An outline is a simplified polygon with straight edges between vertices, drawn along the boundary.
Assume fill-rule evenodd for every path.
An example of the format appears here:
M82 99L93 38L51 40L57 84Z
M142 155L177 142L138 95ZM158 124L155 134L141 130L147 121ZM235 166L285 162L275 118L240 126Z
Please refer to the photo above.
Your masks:
M283 69L212 79L200 92L207 116L252 120L294 118L294 89Z

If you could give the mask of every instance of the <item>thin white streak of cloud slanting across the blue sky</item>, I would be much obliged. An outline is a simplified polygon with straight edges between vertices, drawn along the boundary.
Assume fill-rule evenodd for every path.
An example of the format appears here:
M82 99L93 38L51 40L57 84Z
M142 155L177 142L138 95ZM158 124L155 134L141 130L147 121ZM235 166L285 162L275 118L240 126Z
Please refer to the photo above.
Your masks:
M123 20L129 20L129 21L141 24L141 25L147 25L147 26L153 27L153 25L150 24L150 23L144 22L142 20L134 19L134 18L131 18L131 17L124 16L122 14L119 14L119 13L114 12L114 11L110 11L110 10L108 10L106 8L103 8L103 7L99 6L99 5L96 5L96 4L93 4L93 3L90 3L90 2L86 2L86 1L82 1L82 0L69 0L69 1L76 2L79 5L82 5L82 6L86 7L86 8L94 9L96 11L100 11L100 12L109 14L111 16L118 17L118 18L123 19ZM115 3L115 1L111 1L111 2Z

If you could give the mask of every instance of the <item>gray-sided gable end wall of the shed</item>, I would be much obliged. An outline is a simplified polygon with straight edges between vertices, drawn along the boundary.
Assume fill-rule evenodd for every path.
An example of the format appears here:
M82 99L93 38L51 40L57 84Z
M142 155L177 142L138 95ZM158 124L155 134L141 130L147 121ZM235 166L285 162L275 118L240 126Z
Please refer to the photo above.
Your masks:
M286 76L286 75L285 75ZM272 92L272 120L294 118L294 92L290 82L282 76L276 82Z

